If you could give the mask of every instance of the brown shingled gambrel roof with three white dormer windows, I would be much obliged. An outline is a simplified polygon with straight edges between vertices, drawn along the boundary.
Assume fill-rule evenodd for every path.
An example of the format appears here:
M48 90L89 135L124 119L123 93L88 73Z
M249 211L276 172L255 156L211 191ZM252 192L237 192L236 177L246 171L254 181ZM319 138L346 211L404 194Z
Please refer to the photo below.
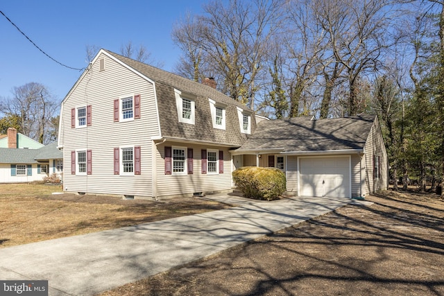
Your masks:
M256 121L255 116L253 116L253 110L248 109L245 105L234 101L234 99L218 90L148 64L125 58L117 53L104 51L155 82L162 137L220 143L234 147L241 146L248 135L240 131L237 107L252 114L251 132L254 132ZM178 122L174 89L196 96L194 125ZM225 130L213 128L208 98L226 106Z

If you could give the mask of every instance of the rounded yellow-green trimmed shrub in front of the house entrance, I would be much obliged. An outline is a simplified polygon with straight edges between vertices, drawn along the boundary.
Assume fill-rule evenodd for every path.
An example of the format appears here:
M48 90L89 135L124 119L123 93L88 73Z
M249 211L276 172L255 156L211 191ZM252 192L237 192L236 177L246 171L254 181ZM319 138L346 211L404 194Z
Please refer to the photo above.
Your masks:
M277 200L285 191L285 174L278 168L244 166L232 173L237 187L246 198Z

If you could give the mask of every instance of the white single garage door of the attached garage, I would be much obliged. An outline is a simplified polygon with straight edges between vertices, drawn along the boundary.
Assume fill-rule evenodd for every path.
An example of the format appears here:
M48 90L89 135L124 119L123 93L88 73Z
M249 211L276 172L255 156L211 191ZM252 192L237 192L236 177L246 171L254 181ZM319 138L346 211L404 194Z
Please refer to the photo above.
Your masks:
M350 157L300 157L299 195L350 198Z

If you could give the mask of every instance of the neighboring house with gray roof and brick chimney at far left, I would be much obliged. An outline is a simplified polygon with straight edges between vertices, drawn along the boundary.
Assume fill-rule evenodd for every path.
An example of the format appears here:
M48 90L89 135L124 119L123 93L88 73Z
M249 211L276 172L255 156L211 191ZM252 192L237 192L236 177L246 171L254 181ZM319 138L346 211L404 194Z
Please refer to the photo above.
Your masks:
M6 137L0 140L3 139L6 145L0 148L0 183L42 181L52 173L62 178L63 155L56 143L44 146L13 128L9 128ZM28 148L17 148L19 143Z

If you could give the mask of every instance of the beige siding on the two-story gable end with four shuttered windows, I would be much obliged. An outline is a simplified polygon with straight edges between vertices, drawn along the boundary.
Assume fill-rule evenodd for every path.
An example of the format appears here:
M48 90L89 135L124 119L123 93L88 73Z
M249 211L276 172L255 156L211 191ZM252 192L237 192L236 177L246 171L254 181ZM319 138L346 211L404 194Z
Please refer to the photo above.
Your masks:
M104 71L99 71L100 58L105 58ZM114 99L136 94L141 119L114 122ZM71 128L71 108L87 105L92 105L92 125ZM99 56L62 105L65 191L151 196L151 137L159 137L155 105L151 82ZM141 146L141 175L114 175L114 148L125 146ZM71 151L78 149L92 150L92 175L71 175Z

